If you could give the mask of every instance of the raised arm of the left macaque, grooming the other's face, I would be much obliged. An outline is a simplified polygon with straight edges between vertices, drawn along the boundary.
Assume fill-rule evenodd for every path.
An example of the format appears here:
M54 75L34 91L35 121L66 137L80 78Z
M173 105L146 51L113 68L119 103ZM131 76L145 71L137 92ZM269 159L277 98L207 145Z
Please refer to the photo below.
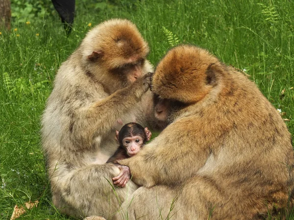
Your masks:
M76 110L76 120L71 126L73 141L82 144L87 142L90 146L93 138L103 137L109 133L116 120L141 100L142 95L149 88L150 81L151 74L146 74L130 86L114 92L103 100Z

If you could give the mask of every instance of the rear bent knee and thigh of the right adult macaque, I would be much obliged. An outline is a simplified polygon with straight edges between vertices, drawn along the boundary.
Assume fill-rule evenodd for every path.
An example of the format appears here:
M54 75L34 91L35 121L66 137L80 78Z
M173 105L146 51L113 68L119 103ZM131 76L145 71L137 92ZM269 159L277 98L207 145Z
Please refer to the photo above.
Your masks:
M184 218L193 220L257 220L268 207L254 189L220 183L210 176L195 176L187 181L179 199Z

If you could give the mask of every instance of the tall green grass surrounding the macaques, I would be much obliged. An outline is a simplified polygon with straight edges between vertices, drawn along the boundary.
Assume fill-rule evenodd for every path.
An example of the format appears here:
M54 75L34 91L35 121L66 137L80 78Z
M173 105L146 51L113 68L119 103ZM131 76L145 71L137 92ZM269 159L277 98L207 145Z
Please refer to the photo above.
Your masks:
M79 4L76 10L69 38L57 17L14 21L10 33L1 31L0 219L10 219L15 204L36 199L38 207L23 219L66 219L50 202L40 117L58 67L80 44L90 22L133 21L149 43L154 66L172 45L190 43L246 69L275 108L286 112L294 134L293 1L141 0L99 10Z

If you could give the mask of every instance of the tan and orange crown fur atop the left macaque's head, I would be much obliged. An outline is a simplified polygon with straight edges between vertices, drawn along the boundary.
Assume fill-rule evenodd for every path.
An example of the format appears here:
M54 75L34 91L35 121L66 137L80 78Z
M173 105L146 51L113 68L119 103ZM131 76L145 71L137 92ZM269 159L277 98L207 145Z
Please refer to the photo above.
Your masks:
M84 61L93 51L101 51L101 63L117 68L146 58L149 48L136 25L128 20L112 19L94 27L83 40L80 51Z

